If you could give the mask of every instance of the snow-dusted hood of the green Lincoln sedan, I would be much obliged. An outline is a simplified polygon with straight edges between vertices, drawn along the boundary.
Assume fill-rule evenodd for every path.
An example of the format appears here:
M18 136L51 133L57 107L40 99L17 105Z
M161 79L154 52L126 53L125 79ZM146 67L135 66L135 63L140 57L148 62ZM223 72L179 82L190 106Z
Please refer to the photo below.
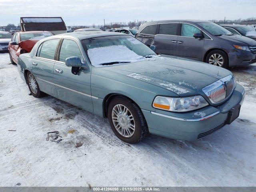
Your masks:
M179 96L202 93L202 88L232 74L229 70L207 63L164 55L103 68L111 74L114 72L147 82Z

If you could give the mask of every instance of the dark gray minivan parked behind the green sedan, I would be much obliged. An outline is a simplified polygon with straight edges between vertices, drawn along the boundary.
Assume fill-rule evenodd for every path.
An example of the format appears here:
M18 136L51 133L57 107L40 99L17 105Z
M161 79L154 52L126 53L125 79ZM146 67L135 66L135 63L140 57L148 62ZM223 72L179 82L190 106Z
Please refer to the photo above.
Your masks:
M204 20L164 20L144 23L136 36L160 54L174 55L216 66L256 63L256 41L233 34Z

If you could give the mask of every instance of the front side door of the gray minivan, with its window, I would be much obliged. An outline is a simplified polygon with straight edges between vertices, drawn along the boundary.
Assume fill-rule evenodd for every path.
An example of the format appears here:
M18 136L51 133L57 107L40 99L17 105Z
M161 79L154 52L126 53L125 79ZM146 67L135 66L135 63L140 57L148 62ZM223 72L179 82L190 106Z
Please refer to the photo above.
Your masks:
M202 33L202 30L192 24L180 24L180 36L178 36L177 56L193 60L202 60L204 39L193 37L195 33Z

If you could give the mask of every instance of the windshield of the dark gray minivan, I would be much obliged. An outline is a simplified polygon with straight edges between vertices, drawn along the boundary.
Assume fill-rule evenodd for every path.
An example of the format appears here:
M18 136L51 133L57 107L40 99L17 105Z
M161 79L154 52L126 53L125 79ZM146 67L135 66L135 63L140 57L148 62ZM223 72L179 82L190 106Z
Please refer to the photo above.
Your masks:
M230 34L231 32L224 27L214 23L214 22L201 22L198 23L201 27L206 29L208 32L210 32L213 35L224 35L224 34Z

